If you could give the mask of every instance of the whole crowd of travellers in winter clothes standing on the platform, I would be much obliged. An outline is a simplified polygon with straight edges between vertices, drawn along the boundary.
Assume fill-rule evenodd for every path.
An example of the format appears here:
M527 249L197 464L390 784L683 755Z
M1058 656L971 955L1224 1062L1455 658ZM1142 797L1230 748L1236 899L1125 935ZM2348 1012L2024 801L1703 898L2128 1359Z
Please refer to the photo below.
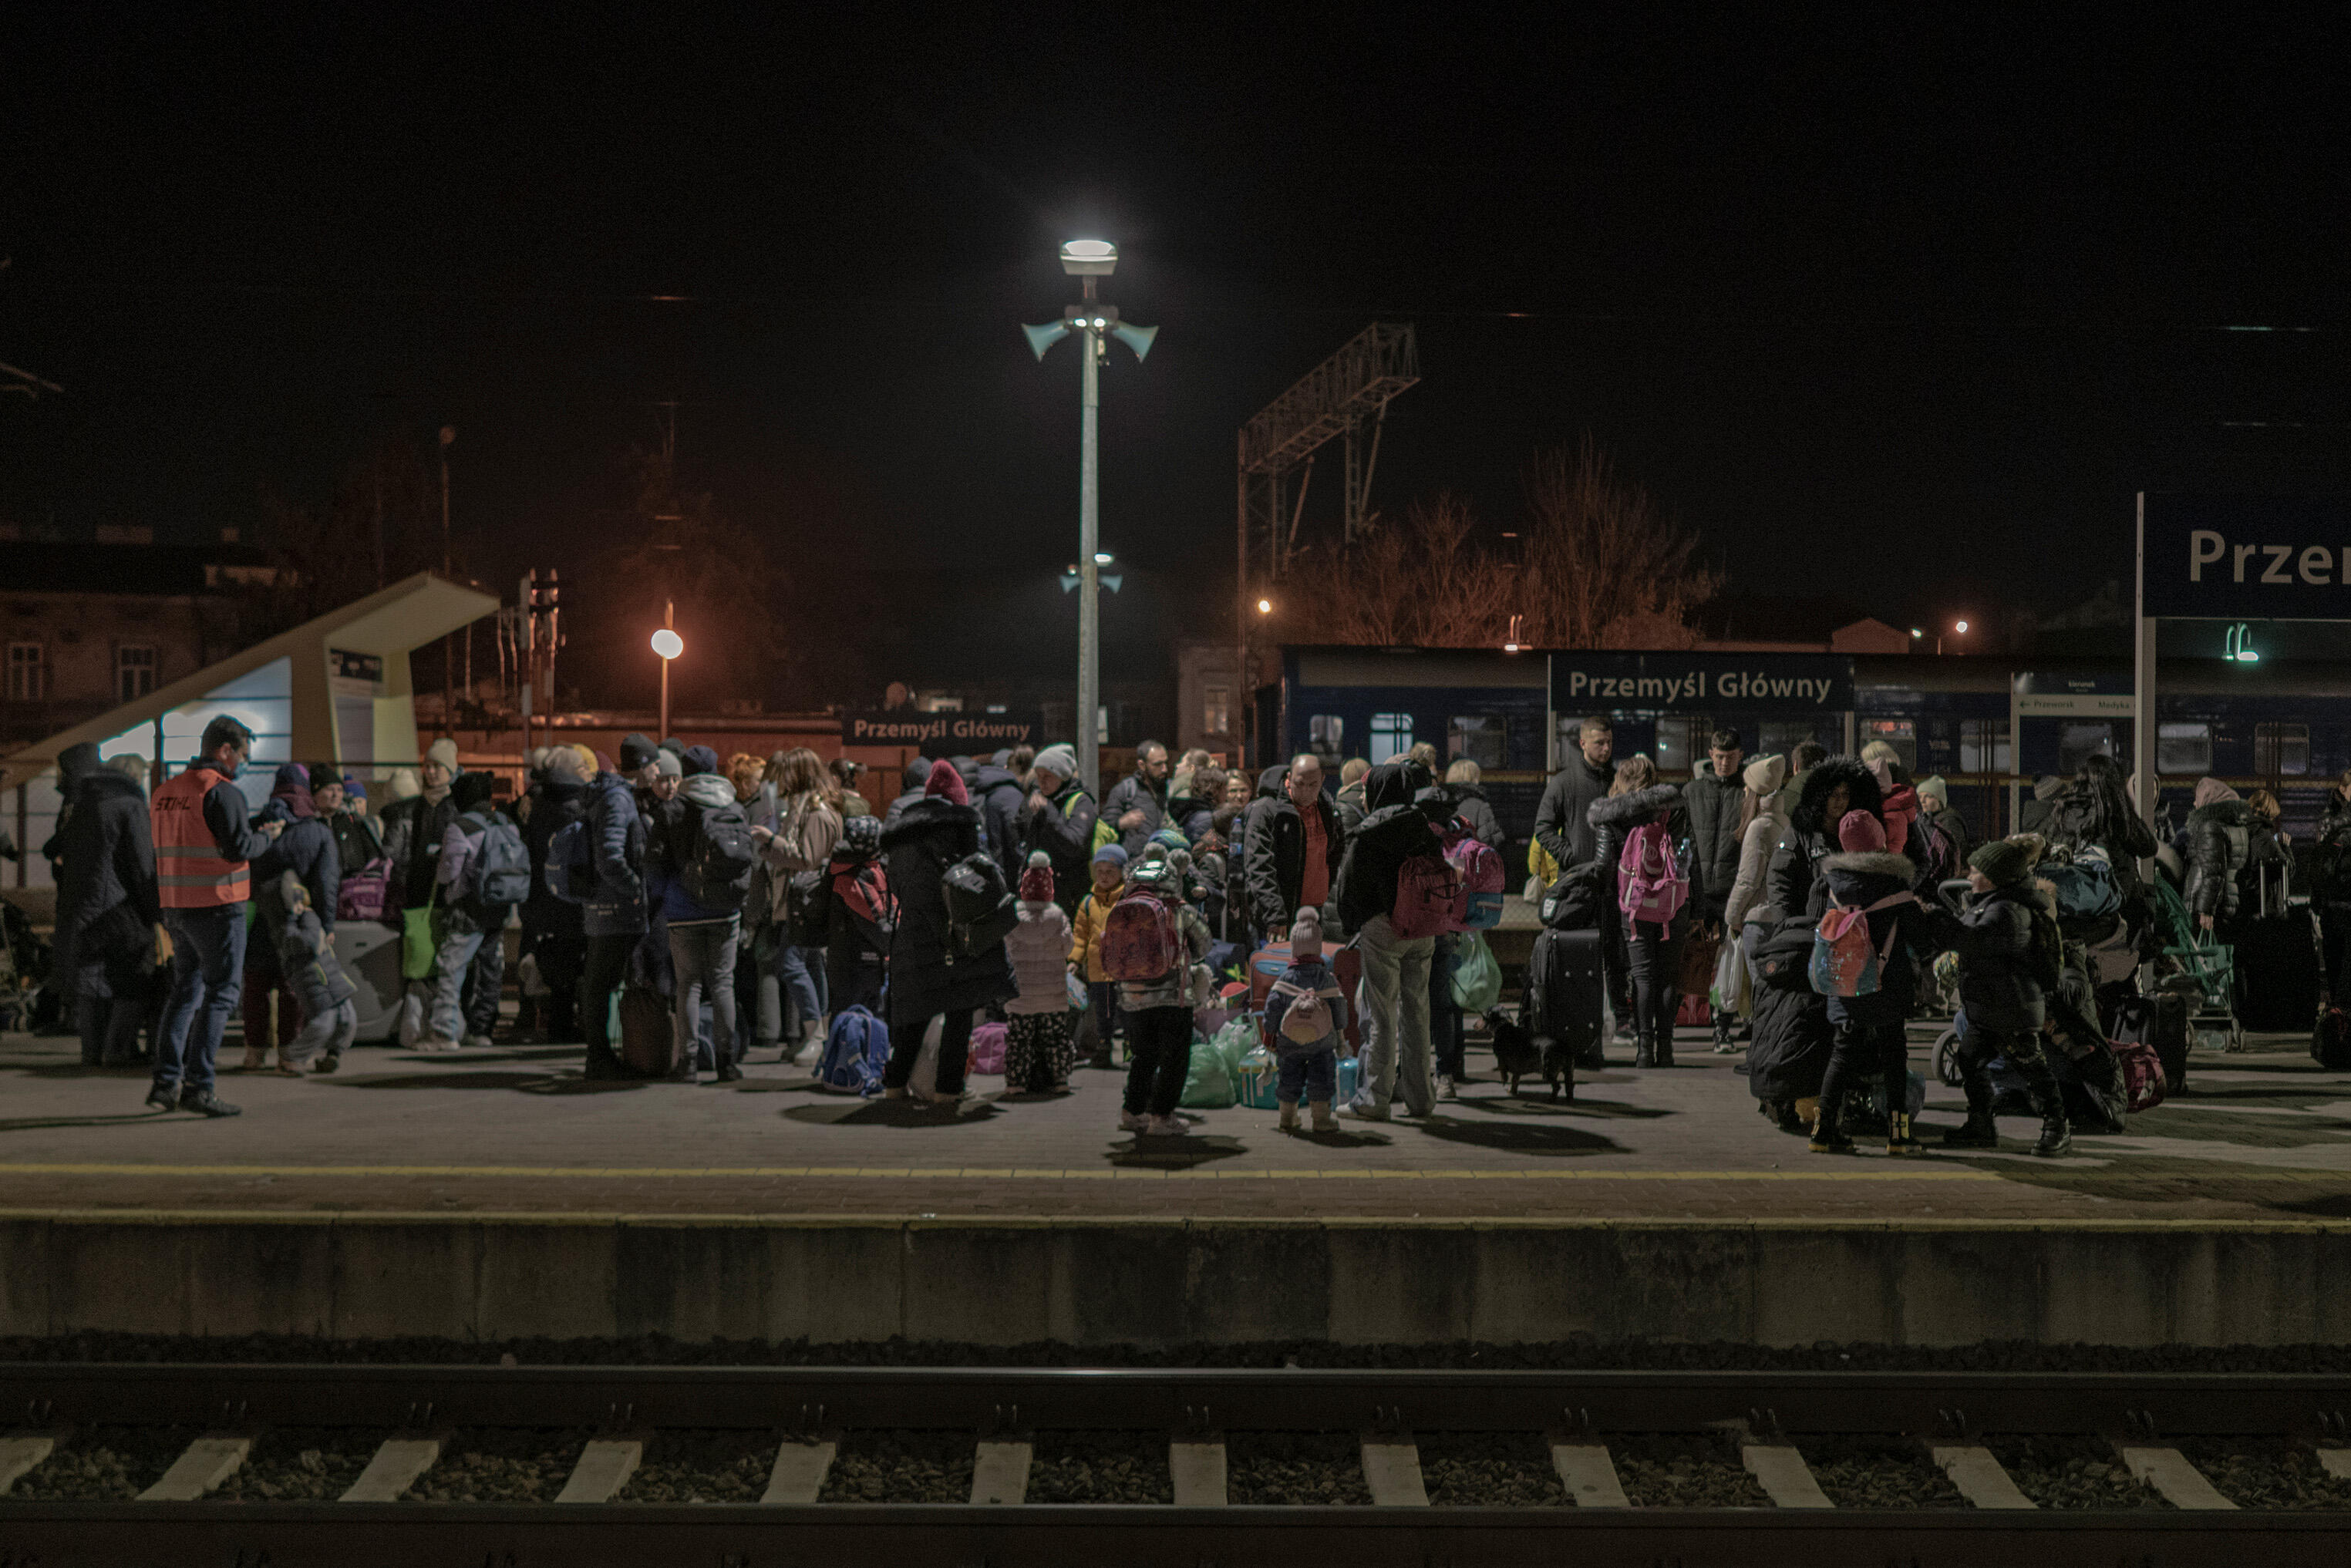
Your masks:
M489 1044L505 990L501 933L520 924L515 1027L583 1041L590 1079L724 1084L752 1051L811 1060L839 1018L863 1013L889 1034L882 1093L952 1103L973 1032L999 1020L1011 1077L1044 1093L1070 1091L1081 1060L1117 1065L1124 1044L1119 1124L1180 1133L1194 1009L1281 940L1291 969L1267 1034L1288 1041L1284 1126L1300 1105L1314 1126L1425 1117L1467 1079L1458 938L1408 931L1399 886L1408 863L1444 856L1446 842L1502 849L1505 832L1476 764L1455 759L1439 780L1429 745L1378 766L1352 759L1335 776L1298 755L1251 780L1208 752L1145 743L1100 802L1067 745L915 759L879 813L851 759L825 764L809 748L722 759L649 736L623 738L614 757L541 748L524 792L503 804L489 773L461 771L447 738L390 778L381 813L355 776L284 764L256 813L237 785L249 752L242 724L214 719L200 757L153 799L139 757L61 757L68 809L47 846L54 971L82 1060L148 1063L158 1110L237 1114L216 1093L216 1053L240 1006L242 1070L336 1070L357 1027L339 919L400 933L397 1037L428 1053ZM1592 717L1545 788L1531 893L1589 882L1596 896L1580 907L1601 910L1606 997L1636 1067L1674 1065L1686 990L1712 997L1723 1053L1761 1051L1824 1016L1834 1048L1801 1117L1820 1152L1853 1147L1838 1091L1855 1081L1883 1084L1888 1147L1916 1147L1900 1110L1902 1025L1921 990L1940 985L1935 957L1956 954L1972 1030L1961 1056L1968 1121L1951 1140L1991 1138L1984 1070L1998 1058L2043 1114L2038 1152L2062 1152L2045 1051L2067 1048L2048 1027L2064 945L2034 867L2052 846L2102 853L2123 919L2144 933L2137 867L2156 842L2106 757L2036 788L2034 806L2029 832L1975 846L1942 780L1911 778L1886 745L1749 757L1733 729L1714 731L1707 766L1672 785L1648 757L1617 759L1610 722ZM2285 853L2276 816L2262 792L2241 802L2217 780L2198 785L2179 851L2205 926L2233 914L2248 865ZM2351 851L2351 778L2320 839ZM2320 910L2330 969L2351 961L2351 853L2337 858L2342 907ZM1972 900L1947 896L1956 879ZM962 907L969 889L1004 919ZM1138 973L1121 945L1121 907L1136 896L1166 912L1164 950L1145 947L1161 971ZM1787 959L1799 938L1822 940L1831 912L1864 933L1855 952L1874 954L1871 980L1787 1004ZM1340 947L1361 966L1347 990L1326 961ZM1704 973L1693 947L1709 954ZM1364 1063L1338 1105L1319 1053L1349 1018ZM917 1077L926 1041L933 1056ZM1782 1124L1799 1117L1787 1103L1768 1110Z

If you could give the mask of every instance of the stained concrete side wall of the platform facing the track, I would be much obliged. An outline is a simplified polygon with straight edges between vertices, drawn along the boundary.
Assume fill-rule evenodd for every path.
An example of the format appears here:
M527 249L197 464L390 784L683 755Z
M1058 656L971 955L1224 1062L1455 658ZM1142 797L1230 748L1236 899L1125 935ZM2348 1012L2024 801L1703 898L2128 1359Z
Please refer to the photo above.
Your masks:
M35 1338L2311 1345L2346 1286L2316 1220L0 1211L0 1333Z

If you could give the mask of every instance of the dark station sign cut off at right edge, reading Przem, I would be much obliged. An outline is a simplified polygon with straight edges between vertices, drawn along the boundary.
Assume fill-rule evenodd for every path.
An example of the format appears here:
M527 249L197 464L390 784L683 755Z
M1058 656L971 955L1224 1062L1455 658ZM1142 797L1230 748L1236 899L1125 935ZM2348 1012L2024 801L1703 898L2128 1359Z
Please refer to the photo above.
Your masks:
M2351 503L2292 496L2144 501L2149 616L2351 621Z

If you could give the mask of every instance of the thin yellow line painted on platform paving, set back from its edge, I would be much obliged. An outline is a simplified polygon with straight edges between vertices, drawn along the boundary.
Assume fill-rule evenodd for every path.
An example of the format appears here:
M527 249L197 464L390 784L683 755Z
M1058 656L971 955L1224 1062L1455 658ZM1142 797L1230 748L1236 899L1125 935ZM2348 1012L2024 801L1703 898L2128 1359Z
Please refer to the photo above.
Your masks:
M442 1180L489 1180L489 1178L538 1178L560 1182L590 1182L590 1180L729 1180L729 1178L773 1178L773 1180L823 1180L823 1178L860 1178L860 1180L987 1180L987 1182L1030 1182L1030 1180L1347 1180L1359 1182L1366 1175L1380 1180L1422 1180L1422 1182L1491 1182L1491 1180L1582 1180L1582 1182L1998 1182L2003 1180L1996 1171L1980 1166L1916 1166L1888 1161L1883 1168L1855 1171L1850 1166L1838 1171L1578 1171L1556 1166L1514 1166L1500 1171L1392 1171L1392 1168L1368 1168L1368 1166L1345 1166L1338 1171L1314 1171L1314 1168L1251 1168L1230 1171L1220 1166L1199 1168L1157 1168L1157 1166L1074 1166L1074 1168L1034 1168L1034 1166L165 1166L165 1164L0 1164L0 1180L24 1175L150 1175L150 1178L174 1178L174 1180L202 1180L202 1178L247 1178L247 1175L275 1175L275 1178L442 1178Z

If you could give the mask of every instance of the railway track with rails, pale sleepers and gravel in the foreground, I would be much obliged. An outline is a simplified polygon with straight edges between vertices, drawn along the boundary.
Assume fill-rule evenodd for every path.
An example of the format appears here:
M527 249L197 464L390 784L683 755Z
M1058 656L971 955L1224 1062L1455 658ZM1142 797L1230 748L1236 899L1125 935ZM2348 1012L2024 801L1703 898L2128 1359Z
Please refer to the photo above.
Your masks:
M2351 1561L2351 1375L19 1363L0 1410L0 1568Z

